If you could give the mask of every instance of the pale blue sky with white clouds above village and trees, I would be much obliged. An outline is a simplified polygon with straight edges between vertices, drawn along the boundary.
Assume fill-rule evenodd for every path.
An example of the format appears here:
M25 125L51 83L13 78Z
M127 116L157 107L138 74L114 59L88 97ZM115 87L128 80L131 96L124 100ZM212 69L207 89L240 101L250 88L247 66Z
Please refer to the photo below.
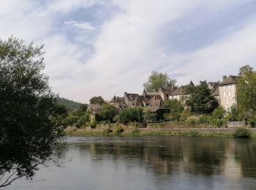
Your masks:
M153 70L181 86L256 67L255 0L1 0L0 27L45 45L52 91L83 103L142 94Z

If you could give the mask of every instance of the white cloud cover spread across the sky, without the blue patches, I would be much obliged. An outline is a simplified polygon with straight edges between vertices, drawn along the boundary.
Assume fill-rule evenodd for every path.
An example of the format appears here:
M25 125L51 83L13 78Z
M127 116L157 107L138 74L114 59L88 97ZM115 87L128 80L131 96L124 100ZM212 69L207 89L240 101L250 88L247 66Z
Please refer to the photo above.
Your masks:
M111 4L122 11L105 20L102 26L98 27L93 20L80 22L65 18L69 20L65 22L67 26L83 31L76 37L81 42L88 38L84 30L91 34L97 26L98 36L89 42L91 52L89 47L76 44L78 40L72 42L70 36L55 31L58 14L68 15L76 9L89 9L96 3L108 4L108 1L56 0L48 1L43 8L34 1L4 1L0 7L0 35L6 38L14 34L28 42L45 44L45 72L50 76L53 91L69 99L88 102L95 95L110 99L124 91L141 93L143 83L154 69L167 72L170 77L180 75L177 77L179 84L184 84L205 78L220 80L221 75L236 74L242 64L256 66L256 24L253 19L229 37L187 54L164 53L159 44L159 37L165 33L162 26L184 17L187 12L205 7L217 14L244 2L112 0ZM176 26L172 27L175 29Z

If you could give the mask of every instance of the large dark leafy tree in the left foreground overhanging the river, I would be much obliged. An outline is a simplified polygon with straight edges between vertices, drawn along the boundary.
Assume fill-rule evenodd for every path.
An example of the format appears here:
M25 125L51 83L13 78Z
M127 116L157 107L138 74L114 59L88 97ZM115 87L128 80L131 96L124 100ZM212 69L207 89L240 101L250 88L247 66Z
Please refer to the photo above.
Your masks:
M42 74L42 46L0 40L0 188L13 180L32 178L39 164L52 160L62 136L48 77Z

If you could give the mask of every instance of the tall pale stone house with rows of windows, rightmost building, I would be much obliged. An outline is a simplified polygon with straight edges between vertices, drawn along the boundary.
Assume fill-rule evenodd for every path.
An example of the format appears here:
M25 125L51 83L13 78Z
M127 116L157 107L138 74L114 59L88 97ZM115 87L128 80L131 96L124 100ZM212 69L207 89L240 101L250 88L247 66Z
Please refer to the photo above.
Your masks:
M222 83L219 83L219 102L225 110L237 104L236 99L236 81L238 76L223 76Z

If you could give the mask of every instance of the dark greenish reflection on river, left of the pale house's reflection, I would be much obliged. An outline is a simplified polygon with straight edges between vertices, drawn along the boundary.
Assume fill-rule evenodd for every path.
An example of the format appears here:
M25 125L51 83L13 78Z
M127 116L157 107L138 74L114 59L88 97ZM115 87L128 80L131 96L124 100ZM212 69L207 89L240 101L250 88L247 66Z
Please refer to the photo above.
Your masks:
M223 140L187 137L143 137L121 141L91 142L81 146L89 149L92 159L124 159L144 161L147 169L156 173L170 174L173 170L185 170L194 174L212 175L219 173L219 164L224 157ZM138 162L135 162L138 164ZM139 162L140 163L140 162Z

